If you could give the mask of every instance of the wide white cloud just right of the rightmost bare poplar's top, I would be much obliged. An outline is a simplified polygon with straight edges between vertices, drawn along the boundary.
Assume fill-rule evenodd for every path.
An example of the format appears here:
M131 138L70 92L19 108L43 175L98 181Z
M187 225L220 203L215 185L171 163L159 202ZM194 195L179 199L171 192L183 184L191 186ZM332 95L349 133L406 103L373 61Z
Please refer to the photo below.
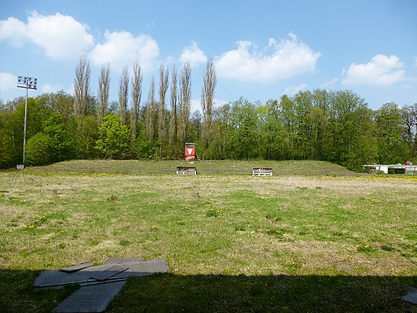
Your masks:
M313 51L294 33L280 42L270 38L263 51L250 41L238 41L237 45L237 49L225 52L215 62L220 77L239 81L277 81L315 70L320 58L320 52ZM270 54L266 53L268 50L272 50Z

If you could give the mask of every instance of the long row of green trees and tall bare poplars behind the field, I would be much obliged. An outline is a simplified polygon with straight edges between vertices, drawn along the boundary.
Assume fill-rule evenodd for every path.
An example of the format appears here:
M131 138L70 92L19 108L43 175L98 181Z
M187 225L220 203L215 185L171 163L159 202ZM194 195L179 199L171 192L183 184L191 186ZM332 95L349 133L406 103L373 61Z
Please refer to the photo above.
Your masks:
M124 67L118 99L109 103L111 69L101 67L97 95L81 57L74 95L28 99L26 165L70 159L182 159L186 142L200 159L322 160L359 170L366 163L417 163L417 104L373 111L350 90L300 91L265 104L240 97L214 106L217 77L209 58L201 111L190 112L191 66L161 65L142 103L143 72ZM156 89L158 93L156 93ZM130 104L130 106L129 106ZM22 163L24 98L0 102L0 168Z

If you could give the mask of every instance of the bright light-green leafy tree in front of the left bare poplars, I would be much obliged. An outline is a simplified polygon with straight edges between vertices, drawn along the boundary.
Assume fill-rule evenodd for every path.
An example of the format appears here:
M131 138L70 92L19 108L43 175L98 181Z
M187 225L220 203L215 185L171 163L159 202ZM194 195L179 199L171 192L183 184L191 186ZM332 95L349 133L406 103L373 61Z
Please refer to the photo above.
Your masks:
M119 115L106 115L99 127L99 139L96 148L99 156L105 159L127 159L130 156L131 134L126 125L122 125Z

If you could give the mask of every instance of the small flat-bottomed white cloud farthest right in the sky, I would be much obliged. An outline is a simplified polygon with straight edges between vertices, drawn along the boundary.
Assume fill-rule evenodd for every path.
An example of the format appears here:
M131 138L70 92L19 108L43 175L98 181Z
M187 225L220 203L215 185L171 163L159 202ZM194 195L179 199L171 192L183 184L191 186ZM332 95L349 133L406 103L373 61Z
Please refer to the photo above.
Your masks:
M366 64L352 63L342 76L345 85L387 86L404 81L404 63L397 56L377 54Z

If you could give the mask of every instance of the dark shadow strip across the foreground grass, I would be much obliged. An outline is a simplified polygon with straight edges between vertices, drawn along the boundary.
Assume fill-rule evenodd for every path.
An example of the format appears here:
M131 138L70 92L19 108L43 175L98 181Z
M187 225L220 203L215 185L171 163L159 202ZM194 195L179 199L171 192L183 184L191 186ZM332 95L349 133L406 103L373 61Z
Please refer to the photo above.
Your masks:
M0 270L0 312L51 312L76 289L35 289L39 273ZM417 312L400 300L416 288L417 276L156 274L129 278L106 312Z

